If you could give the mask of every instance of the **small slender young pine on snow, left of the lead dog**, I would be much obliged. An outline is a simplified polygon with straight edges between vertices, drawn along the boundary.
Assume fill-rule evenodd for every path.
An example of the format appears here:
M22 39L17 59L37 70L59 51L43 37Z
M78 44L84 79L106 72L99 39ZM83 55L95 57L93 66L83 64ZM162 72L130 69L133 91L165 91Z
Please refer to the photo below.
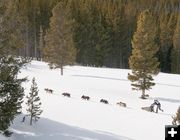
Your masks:
M39 116L42 113L42 110L40 109L41 107L41 102L40 102L40 98L38 96L38 87L37 84L35 82L35 78L33 78L32 80L32 85L31 85L31 89L30 89L30 93L29 96L27 96L27 112L28 115L30 116L30 125L32 125L32 121L33 119L35 121L38 121L38 119L40 118Z

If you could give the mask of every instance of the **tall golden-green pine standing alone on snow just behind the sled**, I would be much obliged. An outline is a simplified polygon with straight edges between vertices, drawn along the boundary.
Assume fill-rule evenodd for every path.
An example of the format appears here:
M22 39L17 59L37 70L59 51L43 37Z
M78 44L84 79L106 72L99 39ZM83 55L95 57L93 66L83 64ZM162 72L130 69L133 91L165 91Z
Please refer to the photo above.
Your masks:
M132 47L132 55L129 58L132 74L128 74L128 79L132 82L132 89L141 90L141 97L145 98L145 90L155 85L152 76L159 72L159 62L155 57L159 49L156 23L148 10L143 11L138 18Z

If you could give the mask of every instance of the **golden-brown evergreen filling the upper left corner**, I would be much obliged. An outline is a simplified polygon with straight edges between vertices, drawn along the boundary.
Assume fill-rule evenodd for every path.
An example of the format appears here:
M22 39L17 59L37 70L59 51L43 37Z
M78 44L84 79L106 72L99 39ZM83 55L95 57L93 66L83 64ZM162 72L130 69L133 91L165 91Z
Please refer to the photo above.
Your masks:
M3 0L0 7L0 53L3 55L17 54L24 47L22 15L18 11L17 1Z

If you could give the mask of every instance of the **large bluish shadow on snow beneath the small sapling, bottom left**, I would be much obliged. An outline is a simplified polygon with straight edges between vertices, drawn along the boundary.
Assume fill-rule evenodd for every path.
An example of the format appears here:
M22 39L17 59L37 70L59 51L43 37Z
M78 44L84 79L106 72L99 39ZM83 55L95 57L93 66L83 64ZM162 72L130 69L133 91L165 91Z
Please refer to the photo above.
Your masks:
M18 116L11 126L12 140L132 140L108 132L91 131L66 125L46 118L37 124L29 125L29 119L22 123L22 115Z

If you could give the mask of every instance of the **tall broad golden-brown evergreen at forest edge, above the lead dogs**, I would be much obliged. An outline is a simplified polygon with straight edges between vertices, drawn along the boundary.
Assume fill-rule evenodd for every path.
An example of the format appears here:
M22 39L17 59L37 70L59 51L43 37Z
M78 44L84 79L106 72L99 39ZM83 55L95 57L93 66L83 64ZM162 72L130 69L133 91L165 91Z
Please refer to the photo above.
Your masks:
M59 2L53 9L50 29L45 36L44 56L50 68L60 68L75 61L76 50L73 45L72 20L67 5Z

